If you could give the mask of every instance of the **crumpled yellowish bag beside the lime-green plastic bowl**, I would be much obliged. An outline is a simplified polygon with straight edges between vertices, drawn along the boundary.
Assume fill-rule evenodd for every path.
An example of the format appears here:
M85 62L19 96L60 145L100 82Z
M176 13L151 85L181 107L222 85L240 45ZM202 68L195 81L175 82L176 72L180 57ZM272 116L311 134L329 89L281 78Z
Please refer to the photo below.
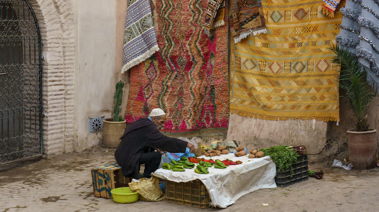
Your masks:
M139 199L149 202L161 201L164 199L163 192L159 186L159 178L152 176L151 178L133 179L129 182L129 188L133 192L138 192Z

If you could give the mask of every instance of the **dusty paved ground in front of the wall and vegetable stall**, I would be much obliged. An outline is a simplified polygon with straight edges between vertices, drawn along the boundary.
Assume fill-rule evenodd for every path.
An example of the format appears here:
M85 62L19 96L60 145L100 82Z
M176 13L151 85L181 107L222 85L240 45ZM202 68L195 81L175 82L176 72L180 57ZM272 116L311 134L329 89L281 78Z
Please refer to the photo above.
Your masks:
M379 208L379 167L345 170L332 167L331 158L309 164L309 169L325 172L321 180L309 178L284 188L261 189L226 209L197 209L165 201L118 204L93 196L90 175L92 168L114 162L113 153L114 149L95 146L81 153L2 167L0 212L371 212Z

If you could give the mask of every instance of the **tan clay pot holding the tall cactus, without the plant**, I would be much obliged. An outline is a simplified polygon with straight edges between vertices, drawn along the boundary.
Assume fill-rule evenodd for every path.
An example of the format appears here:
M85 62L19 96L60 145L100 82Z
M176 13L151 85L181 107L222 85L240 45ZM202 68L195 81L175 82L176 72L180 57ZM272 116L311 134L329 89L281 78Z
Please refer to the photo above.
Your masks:
M103 144L108 148L116 148L120 144L120 137L124 134L126 121L103 120Z

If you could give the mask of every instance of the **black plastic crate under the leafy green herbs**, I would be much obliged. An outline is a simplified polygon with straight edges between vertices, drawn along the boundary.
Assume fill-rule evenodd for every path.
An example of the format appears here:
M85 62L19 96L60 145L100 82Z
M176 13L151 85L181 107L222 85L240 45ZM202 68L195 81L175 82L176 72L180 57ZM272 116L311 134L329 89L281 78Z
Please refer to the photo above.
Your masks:
M292 173L291 169L278 171L278 167L276 167L276 186L286 187L296 182L308 180L308 156L306 154L299 155L297 162L292 164L292 170Z

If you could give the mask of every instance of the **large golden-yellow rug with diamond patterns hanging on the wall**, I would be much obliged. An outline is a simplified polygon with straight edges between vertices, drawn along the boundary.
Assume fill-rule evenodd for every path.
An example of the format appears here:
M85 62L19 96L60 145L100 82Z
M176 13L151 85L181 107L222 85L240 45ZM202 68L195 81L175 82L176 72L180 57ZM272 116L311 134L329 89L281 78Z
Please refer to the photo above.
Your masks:
M262 1L268 33L231 42L231 113L266 120L339 119L339 67L331 63L328 47L342 15L326 17L321 3Z

